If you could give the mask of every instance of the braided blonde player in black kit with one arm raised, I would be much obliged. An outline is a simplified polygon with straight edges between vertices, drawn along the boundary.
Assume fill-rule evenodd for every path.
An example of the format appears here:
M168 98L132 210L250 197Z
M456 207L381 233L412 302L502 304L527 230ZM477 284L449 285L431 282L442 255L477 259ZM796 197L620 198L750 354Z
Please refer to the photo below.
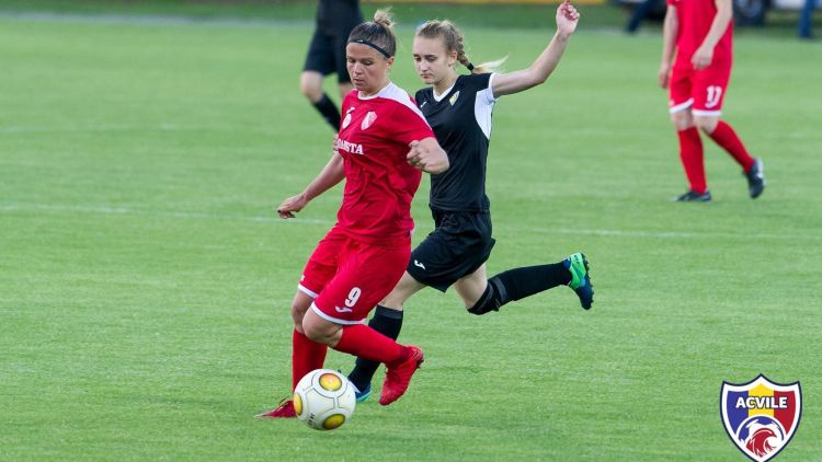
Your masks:
M539 85L557 68L579 14L566 1L557 9L556 21L557 33L536 61L510 73L487 73L486 67L494 63L471 65L463 33L448 21L429 21L416 31L416 72L432 85L416 92L416 104L448 153L450 168L431 176L435 229L414 249L402 279L377 307L368 324L376 331L396 339L402 327L403 303L426 286L443 292L454 286L468 312L478 315L561 285L576 292L583 308L591 308L594 293L587 262L580 253L557 263L513 268L491 279L486 274L486 261L494 245L486 195L491 111L500 96ZM458 62L472 73L457 74ZM349 376L359 401L370 394L378 366L358 358Z

